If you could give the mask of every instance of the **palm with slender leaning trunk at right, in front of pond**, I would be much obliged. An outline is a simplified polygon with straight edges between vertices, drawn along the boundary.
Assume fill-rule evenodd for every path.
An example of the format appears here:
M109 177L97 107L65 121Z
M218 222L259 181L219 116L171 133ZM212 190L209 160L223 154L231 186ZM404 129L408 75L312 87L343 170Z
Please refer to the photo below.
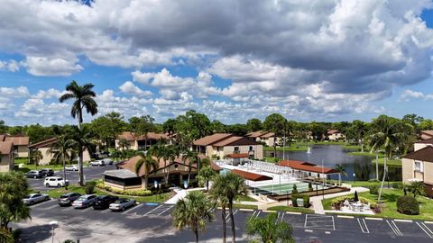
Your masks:
M396 148L401 147L405 140L408 139L410 131L413 130L413 128L408 123L386 115L381 115L374 119L371 125L372 134L368 136L368 139L372 151L382 148L385 153L382 184L378 197L378 202L381 202L383 184L388 171L386 162L388 159L391 159L392 152Z

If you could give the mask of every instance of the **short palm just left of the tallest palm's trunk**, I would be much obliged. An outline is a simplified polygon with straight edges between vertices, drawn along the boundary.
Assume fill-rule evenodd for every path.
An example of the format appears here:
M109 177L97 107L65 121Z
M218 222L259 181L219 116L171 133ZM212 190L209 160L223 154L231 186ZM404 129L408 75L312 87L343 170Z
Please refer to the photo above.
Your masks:
M61 136L58 141L47 150L47 154L53 153L53 159L56 161L62 161L63 163L63 177L66 181L66 168L65 162L66 160L70 161L72 154L74 152L73 149L74 141L69 139L67 136ZM68 184L65 184L65 190L68 190Z

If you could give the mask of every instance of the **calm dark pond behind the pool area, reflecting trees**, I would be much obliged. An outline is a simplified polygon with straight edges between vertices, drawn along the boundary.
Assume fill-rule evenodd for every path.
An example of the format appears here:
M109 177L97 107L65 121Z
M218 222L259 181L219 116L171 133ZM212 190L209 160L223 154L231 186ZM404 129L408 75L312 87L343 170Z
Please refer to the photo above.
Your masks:
M351 150L340 145L312 145L310 153L306 151L286 151L285 159L302 160L326 167L335 168L337 164L345 166L348 177L342 175L343 180L368 181L376 177L376 164L372 163L374 156L353 156L347 154ZM264 151L265 156L271 157L273 151ZM277 157L282 157L282 151L277 151ZM354 178L355 174L355 178ZM383 166L379 165L379 176L382 180ZM331 178L336 179L336 176ZM388 166L388 180L401 181L401 167Z

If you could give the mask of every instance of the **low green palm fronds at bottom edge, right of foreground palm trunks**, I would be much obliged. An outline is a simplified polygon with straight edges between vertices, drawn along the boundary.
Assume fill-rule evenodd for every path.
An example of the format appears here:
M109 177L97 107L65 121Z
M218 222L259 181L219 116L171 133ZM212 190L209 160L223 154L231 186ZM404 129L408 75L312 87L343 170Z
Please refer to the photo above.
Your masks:
M278 221L275 212L263 218L249 216L246 219L245 230L252 237L258 235L264 243L295 242L290 224L282 220Z

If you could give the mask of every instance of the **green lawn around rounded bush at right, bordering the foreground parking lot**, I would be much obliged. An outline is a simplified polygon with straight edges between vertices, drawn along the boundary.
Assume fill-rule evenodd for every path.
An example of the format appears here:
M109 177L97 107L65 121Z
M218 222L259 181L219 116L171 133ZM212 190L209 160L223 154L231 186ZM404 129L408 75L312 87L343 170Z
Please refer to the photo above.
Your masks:
M404 220L433 220L433 200L419 196L417 198L419 204L419 215L406 215L397 211L397 199L403 195L401 190L383 189L382 201L385 206L381 213L377 213L375 217L404 219ZM377 201L377 195L370 193L359 193L359 196ZM331 209L331 200L325 199L322 201L325 210Z

